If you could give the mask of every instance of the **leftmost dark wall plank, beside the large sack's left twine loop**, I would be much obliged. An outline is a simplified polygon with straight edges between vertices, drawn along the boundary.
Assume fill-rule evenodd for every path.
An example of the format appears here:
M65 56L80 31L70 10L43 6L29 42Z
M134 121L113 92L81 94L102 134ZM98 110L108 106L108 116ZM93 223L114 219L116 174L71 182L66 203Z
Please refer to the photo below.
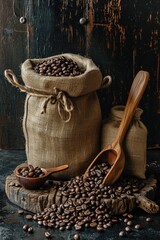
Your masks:
M20 78L20 64L28 54L27 28L14 12L14 1L0 1L0 148L24 148L22 116L24 95L4 78L11 68Z

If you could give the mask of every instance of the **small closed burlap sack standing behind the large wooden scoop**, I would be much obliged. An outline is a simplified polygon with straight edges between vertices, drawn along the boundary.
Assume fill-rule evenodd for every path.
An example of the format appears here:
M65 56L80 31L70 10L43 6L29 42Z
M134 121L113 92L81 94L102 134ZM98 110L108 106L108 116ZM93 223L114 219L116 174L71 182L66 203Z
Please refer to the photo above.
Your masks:
M124 106L115 106L102 127L101 148L111 144L117 134L124 112ZM144 179L146 171L147 128L140 117L143 110L137 108L123 141L125 153L124 173Z

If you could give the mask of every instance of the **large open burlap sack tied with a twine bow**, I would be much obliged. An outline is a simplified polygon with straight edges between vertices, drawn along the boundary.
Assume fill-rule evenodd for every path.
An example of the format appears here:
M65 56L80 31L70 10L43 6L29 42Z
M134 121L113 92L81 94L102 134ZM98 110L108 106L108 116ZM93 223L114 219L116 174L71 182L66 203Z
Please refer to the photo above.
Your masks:
M102 116L96 90L104 82L91 59L61 55L85 72L76 77L41 76L33 64L49 58L28 59L21 66L25 86L17 87L27 93L23 131L28 163L44 168L68 164L67 170L54 174L57 180L67 180L83 174L100 150Z

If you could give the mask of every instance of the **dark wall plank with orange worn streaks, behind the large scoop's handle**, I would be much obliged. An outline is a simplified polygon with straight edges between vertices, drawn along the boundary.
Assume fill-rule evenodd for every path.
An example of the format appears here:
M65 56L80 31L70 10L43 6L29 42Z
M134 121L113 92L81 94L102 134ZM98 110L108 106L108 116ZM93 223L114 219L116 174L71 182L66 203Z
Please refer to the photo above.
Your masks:
M104 118L114 105L125 105L135 74L150 81L140 103L148 129L148 147L160 146L160 1L90 1L87 54L113 78L99 91Z

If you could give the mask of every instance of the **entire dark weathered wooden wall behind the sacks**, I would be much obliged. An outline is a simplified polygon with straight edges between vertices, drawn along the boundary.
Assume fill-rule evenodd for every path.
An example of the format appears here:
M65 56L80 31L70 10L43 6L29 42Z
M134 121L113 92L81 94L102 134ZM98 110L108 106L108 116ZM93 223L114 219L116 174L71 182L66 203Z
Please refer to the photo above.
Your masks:
M0 0L0 148L24 148L25 94L3 71L11 68L21 82L25 59L64 52L91 57L103 75L112 76L112 86L98 91L103 118L126 103L135 74L149 71L140 107L148 147L160 146L159 0Z

